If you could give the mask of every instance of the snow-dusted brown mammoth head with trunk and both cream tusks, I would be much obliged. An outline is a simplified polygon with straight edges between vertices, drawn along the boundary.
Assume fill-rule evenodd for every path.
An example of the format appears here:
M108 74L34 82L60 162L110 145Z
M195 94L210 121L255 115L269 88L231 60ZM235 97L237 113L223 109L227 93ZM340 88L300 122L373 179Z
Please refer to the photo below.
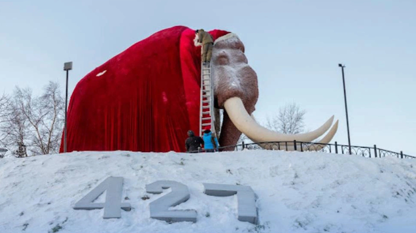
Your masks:
M237 35L229 33L215 41L212 63L215 100L218 107L225 110L220 134L221 145L235 145L241 133L254 142L310 142L332 125L334 116L312 132L294 135L277 133L260 126L250 116L258 100L257 75L248 65L244 44ZM337 127L338 121L319 142L329 143Z

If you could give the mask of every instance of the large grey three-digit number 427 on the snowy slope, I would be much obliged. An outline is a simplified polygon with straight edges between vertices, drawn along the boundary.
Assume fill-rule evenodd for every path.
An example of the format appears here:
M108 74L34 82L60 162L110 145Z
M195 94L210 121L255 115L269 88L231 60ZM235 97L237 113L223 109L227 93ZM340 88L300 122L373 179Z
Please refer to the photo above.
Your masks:
M226 197L237 194L238 220L250 223L257 222L257 210L255 206L255 194L250 186L229 184L203 183L204 193L210 196ZM171 188L172 192L152 201L149 204L150 217L168 222L191 221L196 222L196 210L168 210L189 199L189 190L185 184L171 180L159 180L146 185L146 192L161 194L163 189ZM104 191L106 199L104 203L94 203ZM107 177L97 187L91 190L85 197L74 205L74 209L92 210L104 208L103 218L121 218L121 209L130 211L128 202L121 202L123 191L123 177Z

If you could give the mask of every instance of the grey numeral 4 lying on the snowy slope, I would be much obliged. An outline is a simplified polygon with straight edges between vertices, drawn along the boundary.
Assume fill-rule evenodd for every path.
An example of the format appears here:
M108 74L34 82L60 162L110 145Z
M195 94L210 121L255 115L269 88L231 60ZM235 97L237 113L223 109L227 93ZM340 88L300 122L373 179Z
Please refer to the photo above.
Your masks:
M93 203L104 191L106 192L104 203ZM121 218L121 209L130 211L130 203L121 203L123 191L123 177L108 177L101 184L91 190L85 197L75 203L74 209L102 209L103 218Z

